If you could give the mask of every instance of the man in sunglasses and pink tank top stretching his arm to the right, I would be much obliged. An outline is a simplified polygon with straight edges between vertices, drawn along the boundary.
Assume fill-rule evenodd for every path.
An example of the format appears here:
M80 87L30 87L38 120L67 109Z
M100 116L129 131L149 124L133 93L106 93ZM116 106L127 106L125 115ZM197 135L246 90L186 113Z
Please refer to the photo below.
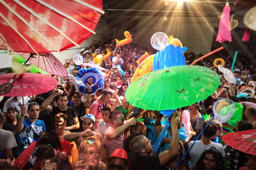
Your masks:
M122 148L125 140L124 130L137 123L136 118L131 118L124 124L124 115L120 111L112 111L109 115L109 119L112 125L105 131L104 137L106 157L111 156L114 150Z

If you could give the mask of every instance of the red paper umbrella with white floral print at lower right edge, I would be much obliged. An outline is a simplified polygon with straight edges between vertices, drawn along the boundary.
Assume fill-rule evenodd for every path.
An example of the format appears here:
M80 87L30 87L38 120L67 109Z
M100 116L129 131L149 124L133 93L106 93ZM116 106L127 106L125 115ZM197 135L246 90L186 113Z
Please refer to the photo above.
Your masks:
M234 149L256 156L256 129L228 133L223 140Z

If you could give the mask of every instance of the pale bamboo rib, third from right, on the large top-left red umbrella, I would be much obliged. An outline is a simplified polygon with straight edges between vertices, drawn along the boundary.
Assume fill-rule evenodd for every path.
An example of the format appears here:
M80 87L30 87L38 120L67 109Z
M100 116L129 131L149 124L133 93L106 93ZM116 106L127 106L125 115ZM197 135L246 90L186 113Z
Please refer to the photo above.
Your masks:
M46 23L49 27L51 27L52 29L54 29L55 31L58 31L61 35L63 35L67 40L69 40L70 42L72 42L74 45L76 45L77 47L80 47L80 45L78 45L76 42L74 42L73 40L71 40L69 37L67 37L67 35L65 35L61 30L59 30L58 28L56 28L55 26L53 26L51 23L49 23L47 20L44 20L44 18L40 17L38 14L36 14L34 11L32 11L30 8L28 8L27 6L25 6L23 3L21 3L19 0L13 0L15 3L17 3L18 5L20 5L22 8L26 9L27 11L29 11L32 15L34 15L35 17L37 17L39 20L42 20L44 23Z

